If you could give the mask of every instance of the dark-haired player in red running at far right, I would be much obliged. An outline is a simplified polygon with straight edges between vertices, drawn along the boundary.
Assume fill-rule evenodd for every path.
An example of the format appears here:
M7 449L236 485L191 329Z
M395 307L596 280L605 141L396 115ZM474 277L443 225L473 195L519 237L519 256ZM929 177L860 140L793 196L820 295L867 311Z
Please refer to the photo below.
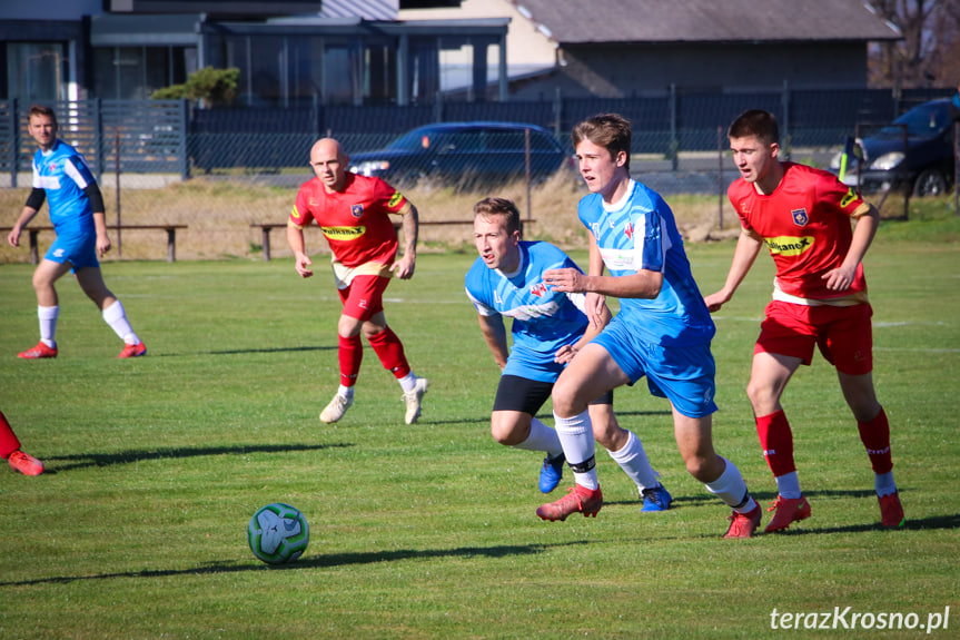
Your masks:
M746 395L763 455L776 479L766 531L809 518L793 462L793 435L780 397L809 365L813 347L834 367L875 474L884 526L901 526L890 426L873 390L873 338L862 259L880 220L873 205L827 171L780 161L780 132L768 111L740 115L728 131L740 178L728 190L743 227L726 282L704 298L711 312L733 297L760 248L776 266L773 301L753 352ZM855 226L851 229L851 219Z

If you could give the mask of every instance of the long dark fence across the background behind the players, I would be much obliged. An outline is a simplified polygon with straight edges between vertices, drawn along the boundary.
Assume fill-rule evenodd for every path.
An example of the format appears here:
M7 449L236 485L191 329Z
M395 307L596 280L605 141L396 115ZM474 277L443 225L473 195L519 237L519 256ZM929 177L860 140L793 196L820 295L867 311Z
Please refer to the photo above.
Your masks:
M953 89L794 90L699 93L671 90L660 97L563 98L536 102L437 102L433 106L320 106L294 109L196 109L186 100L83 100L52 106L61 137L97 173L194 174L243 169L276 173L304 164L319 136L349 138L353 152L385 146L397 135L437 121L515 121L567 132L592 115L615 111L633 125L634 152L661 156L677 170L684 151L714 150L716 128L748 108L778 116L783 147L841 144L858 122L888 122L905 109ZM22 186L36 146L27 131L29 105L0 101L0 186ZM6 178L6 179L4 179Z

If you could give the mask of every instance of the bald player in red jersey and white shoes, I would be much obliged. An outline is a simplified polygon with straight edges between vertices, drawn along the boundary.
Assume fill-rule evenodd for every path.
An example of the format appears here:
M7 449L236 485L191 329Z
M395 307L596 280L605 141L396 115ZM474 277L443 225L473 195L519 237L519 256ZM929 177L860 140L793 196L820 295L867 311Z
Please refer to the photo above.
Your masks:
M287 221L287 242L294 250L300 277L314 275L306 254L304 229L316 220L334 254L334 278L344 309L337 324L340 386L320 413L320 420L340 420L354 403L354 385L360 370L360 334L370 343L384 367L403 388L404 421L413 424L428 382L417 377L404 354L404 345L387 326L383 295L390 277L408 279L416 264L417 209L403 194L380 178L346 170L349 158L333 138L317 140L310 149L315 178L304 183ZM403 216L404 255L395 262L397 233L390 214Z

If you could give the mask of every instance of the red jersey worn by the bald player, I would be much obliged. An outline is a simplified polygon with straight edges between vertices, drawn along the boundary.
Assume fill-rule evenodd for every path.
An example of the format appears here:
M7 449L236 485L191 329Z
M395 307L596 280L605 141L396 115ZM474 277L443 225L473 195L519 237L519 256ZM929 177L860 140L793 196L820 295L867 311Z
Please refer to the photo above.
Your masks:
M389 214L406 214L409 208L403 194L380 178L347 173L340 191L328 193L319 178L304 183L289 224L303 229L316 220L334 258L344 266L388 266L397 254Z

